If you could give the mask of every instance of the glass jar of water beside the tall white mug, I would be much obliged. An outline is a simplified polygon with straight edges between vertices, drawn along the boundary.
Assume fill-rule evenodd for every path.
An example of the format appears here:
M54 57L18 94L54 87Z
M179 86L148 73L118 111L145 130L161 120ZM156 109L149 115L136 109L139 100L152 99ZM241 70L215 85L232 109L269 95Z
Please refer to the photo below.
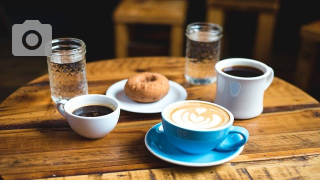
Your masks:
M207 22L191 23L186 28L185 78L191 84L211 84L217 80L215 64L220 60L222 27Z

